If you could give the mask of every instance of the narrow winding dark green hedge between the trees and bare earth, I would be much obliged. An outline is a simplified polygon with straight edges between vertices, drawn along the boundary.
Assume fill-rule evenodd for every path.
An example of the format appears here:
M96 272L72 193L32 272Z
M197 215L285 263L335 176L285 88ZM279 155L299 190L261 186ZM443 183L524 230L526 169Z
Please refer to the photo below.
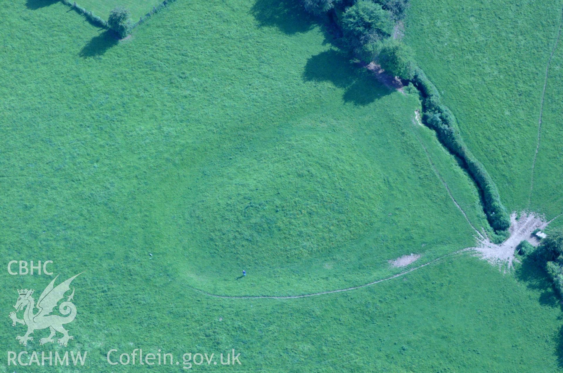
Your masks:
M508 229L510 227L510 215L501 202L497 186L485 167L463 142L455 118L448 107L441 103L438 90L420 68L415 68L412 82L423 97L423 120L428 127L436 131L444 146L463 160L467 171L481 189L485 213L491 227L495 230Z

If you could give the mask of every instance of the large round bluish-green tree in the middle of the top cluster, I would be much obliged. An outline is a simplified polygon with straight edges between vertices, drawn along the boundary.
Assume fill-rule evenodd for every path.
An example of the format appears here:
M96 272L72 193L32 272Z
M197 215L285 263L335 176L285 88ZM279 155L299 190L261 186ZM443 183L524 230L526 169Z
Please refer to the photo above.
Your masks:
M381 43L391 36L393 23L388 11L369 0L359 0L342 16L344 37L356 52L364 46ZM378 50L377 47L370 47Z

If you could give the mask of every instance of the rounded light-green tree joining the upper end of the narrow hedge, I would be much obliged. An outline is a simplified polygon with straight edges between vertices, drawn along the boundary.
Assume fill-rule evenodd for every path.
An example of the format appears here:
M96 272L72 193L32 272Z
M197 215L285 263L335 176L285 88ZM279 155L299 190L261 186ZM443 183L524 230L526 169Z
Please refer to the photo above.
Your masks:
M383 43L377 58L379 65L395 77L410 80L414 77L413 53L409 47L395 39Z

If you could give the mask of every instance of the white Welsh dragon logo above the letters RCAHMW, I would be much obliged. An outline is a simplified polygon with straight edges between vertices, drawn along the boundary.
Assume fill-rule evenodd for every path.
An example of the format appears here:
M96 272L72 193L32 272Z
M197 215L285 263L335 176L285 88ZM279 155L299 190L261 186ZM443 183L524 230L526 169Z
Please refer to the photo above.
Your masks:
M78 273L78 275L81 275L81 273ZM56 307L57 303L64 298L65 293L70 290L70 283L78 275L70 277L68 280L61 282L59 285L54 287L53 285L55 284L55 280L59 277L59 275L57 275L53 278L53 281L47 285L45 290L43 290L43 293L39 296L39 300L37 300L37 305L35 305L35 299L33 299L32 296L34 291L33 289L21 289L17 291L20 296L17 298L17 302L14 305L16 311L10 312L12 326L16 326L16 323L28 326L28 331L25 335L16 336L16 339L20 341L20 344L23 344L24 346L28 345L28 341L33 340L33 337L30 337L29 335L32 334L34 330L46 329L47 327L51 331L51 334L47 338L41 338L39 340L39 344L45 344L47 342L53 343L53 336L55 336L57 331L62 334L62 337L57 340L62 346L66 347L69 339L74 339L74 337L69 335L68 331L62 327L62 325L72 322L74 317L76 317L76 306L74 303L70 302L73 300L74 286L72 294L66 298L65 302L62 302L59 305L59 312L68 316L62 317L57 314L51 314L51 312L53 312L53 308ZM37 313L33 313L34 307L39 309ZM19 312L24 308L24 318L17 318L16 312Z

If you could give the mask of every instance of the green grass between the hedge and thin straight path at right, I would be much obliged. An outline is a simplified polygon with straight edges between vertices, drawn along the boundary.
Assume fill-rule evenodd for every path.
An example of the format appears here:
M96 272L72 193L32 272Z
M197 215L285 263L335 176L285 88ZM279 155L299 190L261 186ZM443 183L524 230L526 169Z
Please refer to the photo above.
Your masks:
M405 41L510 210L528 207L540 99L561 6L559 1L413 2L406 22ZM555 61L552 68L557 69ZM555 174L540 178L555 180L561 164L549 167ZM549 200L536 197L535 206L548 212Z

